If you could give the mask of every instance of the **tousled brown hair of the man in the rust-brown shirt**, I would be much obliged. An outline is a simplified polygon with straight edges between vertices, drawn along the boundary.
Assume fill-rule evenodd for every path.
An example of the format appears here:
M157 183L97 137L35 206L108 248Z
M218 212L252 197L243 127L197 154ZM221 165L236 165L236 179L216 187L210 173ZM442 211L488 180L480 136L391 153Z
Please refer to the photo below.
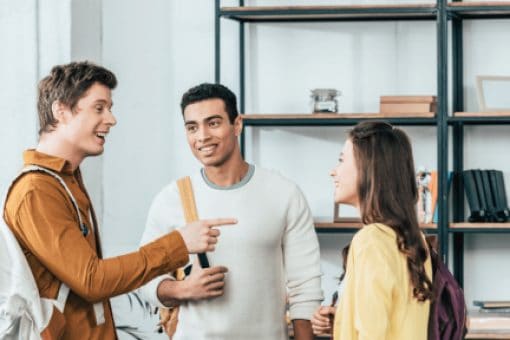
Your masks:
M96 82L112 90L117 86L117 78L113 72L88 61L54 66L50 74L39 82L39 135L50 132L57 126L51 110L53 102L59 101L73 110L80 98Z

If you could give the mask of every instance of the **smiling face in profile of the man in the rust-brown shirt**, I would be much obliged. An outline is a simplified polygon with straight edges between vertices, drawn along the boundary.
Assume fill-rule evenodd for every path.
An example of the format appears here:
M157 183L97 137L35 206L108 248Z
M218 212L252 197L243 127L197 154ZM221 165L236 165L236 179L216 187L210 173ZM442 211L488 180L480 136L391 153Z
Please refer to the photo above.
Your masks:
M112 105L110 88L96 82L72 111L68 107L57 108L60 111L55 114L59 117L57 131L68 154L83 159L103 153L106 135L117 123L111 111Z

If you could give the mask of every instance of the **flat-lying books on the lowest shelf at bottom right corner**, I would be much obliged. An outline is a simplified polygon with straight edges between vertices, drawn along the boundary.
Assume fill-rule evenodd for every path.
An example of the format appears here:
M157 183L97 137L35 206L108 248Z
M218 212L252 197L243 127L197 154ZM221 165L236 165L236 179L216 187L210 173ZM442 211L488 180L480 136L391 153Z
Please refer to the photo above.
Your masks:
M510 333L510 301L473 301L478 310L468 313L470 333Z

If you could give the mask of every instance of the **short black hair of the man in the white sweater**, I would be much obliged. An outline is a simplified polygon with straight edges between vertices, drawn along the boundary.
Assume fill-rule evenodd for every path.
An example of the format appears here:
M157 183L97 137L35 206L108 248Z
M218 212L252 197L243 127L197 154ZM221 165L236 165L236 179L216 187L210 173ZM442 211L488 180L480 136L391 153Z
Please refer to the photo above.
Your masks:
M214 98L223 100L225 110L228 114L228 119L230 123L234 123L234 120L239 115L239 111L237 111L236 95L226 86L221 84L203 83L186 91L186 93L182 95L181 100L182 114L184 115L184 109L188 105Z

